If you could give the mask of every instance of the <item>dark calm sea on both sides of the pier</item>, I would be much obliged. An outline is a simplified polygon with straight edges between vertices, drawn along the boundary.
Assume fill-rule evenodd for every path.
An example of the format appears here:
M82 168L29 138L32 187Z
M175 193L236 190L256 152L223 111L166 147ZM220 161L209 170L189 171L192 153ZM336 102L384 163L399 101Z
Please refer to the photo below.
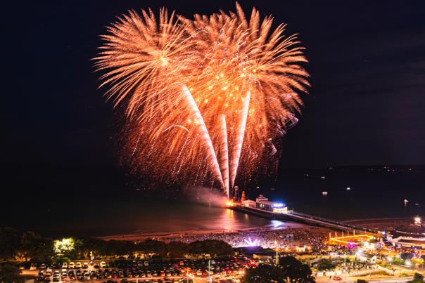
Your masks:
M63 183L63 176L55 183L53 174L39 173L15 180L24 177L28 178L25 185L34 189L10 191L12 197L0 206L0 226L51 236L105 236L293 225L189 201L181 191L135 190L137 186L122 185L125 182L112 173L90 177L92 183L77 173L69 183ZM244 190L251 198L262 193L296 211L338 220L425 216L423 171L286 171L273 184ZM322 191L328 195L322 196ZM197 194L205 192L189 195ZM407 206L404 199L409 200Z

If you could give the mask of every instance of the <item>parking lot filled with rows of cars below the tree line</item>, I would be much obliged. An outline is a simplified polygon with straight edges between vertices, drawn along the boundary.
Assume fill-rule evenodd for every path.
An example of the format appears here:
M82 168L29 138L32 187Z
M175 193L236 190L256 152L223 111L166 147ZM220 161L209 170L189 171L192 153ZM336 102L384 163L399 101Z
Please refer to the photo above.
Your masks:
M255 265L249 258L211 260L116 260L32 263L24 274L37 276L35 282L193 282L208 277L218 282L238 277Z

